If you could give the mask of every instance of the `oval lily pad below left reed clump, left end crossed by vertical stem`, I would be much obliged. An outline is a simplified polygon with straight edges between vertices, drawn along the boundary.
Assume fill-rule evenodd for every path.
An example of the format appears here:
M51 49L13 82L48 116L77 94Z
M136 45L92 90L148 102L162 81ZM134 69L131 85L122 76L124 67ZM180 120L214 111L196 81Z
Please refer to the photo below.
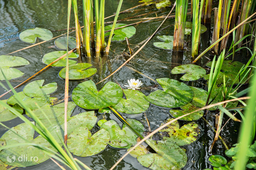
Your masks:
M97 72L96 68L89 68L91 66L92 65L89 63L77 63L77 64L69 65L69 79L79 80L79 79L86 79L88 77L91 77ZM60 70L59 76L62 79L66 78L66 67Z

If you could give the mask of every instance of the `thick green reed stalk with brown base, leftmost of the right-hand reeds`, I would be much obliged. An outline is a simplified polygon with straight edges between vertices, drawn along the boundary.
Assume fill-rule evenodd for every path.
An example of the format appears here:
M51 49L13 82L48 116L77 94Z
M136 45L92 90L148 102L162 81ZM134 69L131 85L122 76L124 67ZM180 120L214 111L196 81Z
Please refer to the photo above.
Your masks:
M194 0L193 0L194 4ZM183 51L188 0L176 0L173 51ZM194 12L193 12L194 13Z

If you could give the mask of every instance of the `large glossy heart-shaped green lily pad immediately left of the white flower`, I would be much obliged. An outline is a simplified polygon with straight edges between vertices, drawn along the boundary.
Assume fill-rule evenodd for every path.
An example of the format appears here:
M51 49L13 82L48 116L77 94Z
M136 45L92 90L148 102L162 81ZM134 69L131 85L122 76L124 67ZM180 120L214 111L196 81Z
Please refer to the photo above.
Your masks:
M122 96L122 88L118 84L108 82L98 91L92 80L78 84L72 92L73 101L84 109L100 109L116 105Z

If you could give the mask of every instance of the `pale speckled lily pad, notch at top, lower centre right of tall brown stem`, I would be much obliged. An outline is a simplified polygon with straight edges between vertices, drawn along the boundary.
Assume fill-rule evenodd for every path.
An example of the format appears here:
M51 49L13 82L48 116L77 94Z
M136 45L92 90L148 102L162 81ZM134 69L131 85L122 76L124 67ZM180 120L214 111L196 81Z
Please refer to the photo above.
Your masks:
M91 135L86 126L80 126L68 136L67 147L76 156L93 156L103 151L109 140L110 135L105 129Z

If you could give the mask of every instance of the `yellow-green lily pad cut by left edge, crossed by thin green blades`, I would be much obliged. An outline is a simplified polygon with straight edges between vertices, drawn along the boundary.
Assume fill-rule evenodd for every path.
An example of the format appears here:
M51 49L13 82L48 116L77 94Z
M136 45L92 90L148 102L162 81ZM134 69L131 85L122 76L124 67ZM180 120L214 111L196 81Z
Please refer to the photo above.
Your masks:
M2 102L6 103L7 100L2 100ZM23 113L23 109L18 104L15 104L13 108L17 110L20 114ZM16 117L17 116L13 114L9 109L5 108L0 104L0 121L10 121Z

